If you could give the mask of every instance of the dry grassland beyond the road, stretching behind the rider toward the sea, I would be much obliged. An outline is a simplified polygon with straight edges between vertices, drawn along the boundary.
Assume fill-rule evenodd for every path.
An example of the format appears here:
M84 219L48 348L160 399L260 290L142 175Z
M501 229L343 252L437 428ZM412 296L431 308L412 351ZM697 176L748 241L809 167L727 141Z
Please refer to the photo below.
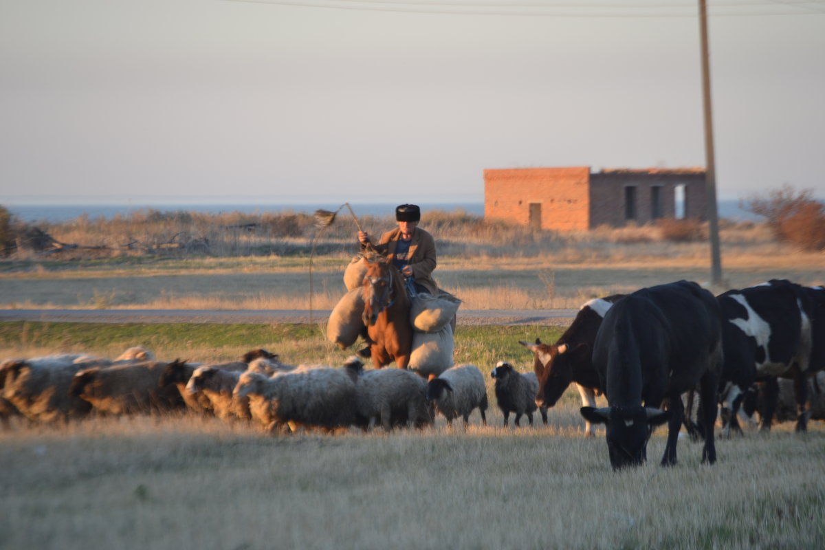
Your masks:
M203 223L203 231L228 227L215 220ZM154 233L163 233L165 226L158 224L151 226ZM709 280L707 243L668 240L657 226L533 233L458 214L445 214L432 225L439 250L433 275L468 309L577 308L588 299L643 286ZM111 242L116 231L125 231L119 226L111 228L114 233L99 228L97 235L92 232L94 223L64 226L51 229L61 242L96 246ZM367 219L365 226L378 233L391 221ZM181 229L175 226L166 233L176 228ZM348 225L332 228L338 233L322 235L312 258L312 305L319 309L331 309L341 299L343 270L357 252ZM309 230L296 237L274 237L263 229L224 230L213 237L215 242L235 244L216 245L221 253L209 255L177 249L165 254L107 251L106 257L97 257L93 250L20 252L0 261L0 307L305 309L315 236ZM822 252L776 242L763 225L725 223L721 237L724 284L715 292L772 278L825 284Z

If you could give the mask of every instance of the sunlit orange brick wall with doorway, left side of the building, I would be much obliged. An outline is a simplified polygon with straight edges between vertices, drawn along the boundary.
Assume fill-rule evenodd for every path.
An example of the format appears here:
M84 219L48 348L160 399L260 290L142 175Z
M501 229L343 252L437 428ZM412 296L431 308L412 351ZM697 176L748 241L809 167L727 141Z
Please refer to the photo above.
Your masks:
M589 167L485 170L484 218L528 225L534 203L540 204L541 228L586 231L589 179Z

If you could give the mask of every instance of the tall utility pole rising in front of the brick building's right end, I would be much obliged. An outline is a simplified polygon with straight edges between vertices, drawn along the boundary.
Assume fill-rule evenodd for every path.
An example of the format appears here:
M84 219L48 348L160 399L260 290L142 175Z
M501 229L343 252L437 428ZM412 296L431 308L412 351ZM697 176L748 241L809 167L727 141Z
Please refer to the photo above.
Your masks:
M722 284L722 255L719 251L719 209L716 204L716 164L714 160L714 123L710 106L710 54L708 52L708 7L699 0L699 29L702 43L702 102L705 106L705 213L709 222L710 280Z

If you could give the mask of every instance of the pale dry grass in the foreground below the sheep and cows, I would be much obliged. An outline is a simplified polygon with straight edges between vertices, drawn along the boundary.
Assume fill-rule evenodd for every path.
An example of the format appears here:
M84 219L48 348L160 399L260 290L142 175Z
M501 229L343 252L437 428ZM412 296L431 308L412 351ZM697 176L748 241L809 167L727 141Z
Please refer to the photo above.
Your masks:
M496 411L497 412L497 411ZM500 422L496 412L491 424ZM112 418L0 435L0 548L822 548L825 430L683 439L612 472L574 407L548 427L271 437Z

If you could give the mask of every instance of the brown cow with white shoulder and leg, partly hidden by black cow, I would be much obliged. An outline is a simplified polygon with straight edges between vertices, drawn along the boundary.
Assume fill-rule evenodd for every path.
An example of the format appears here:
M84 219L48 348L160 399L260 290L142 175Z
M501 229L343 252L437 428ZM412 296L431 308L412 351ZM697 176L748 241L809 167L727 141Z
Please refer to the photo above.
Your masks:
M535 344L519 341L535 354L533 369L539 378L539 393L535 396L538 407L553 407L572 382L576 383L582 405L596 407L596 394L603 393L603 388L599 387L599 376L591 360L593 342L607 310L624 297L625 294L613 294L583 303L573 323L555 344L543 344L538 338ZM585 421L584 434L587 437L596 434L590 421Z

